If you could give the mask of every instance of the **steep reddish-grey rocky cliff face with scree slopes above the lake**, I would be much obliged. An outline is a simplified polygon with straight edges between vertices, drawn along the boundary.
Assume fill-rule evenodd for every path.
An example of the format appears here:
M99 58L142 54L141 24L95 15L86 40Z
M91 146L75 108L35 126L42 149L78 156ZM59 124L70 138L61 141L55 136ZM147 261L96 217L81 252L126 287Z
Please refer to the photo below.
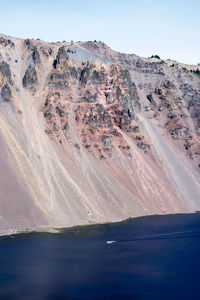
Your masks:
M179 64L1 36L0 135L1 232L200 209L200 77Z

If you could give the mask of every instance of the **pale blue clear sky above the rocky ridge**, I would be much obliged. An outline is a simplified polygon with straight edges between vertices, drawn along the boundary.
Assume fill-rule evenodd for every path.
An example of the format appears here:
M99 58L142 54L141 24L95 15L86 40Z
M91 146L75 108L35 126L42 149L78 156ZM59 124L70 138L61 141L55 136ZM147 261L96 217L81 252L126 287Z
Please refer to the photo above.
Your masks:
M200 0L0 0L0 32L200 62Z

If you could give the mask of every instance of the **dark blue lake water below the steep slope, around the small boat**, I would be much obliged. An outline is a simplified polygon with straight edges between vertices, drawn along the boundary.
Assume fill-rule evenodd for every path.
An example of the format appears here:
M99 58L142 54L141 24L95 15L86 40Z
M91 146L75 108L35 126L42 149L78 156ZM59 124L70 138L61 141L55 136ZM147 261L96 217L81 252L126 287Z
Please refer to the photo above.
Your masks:
M1 238L0 299L200 299L200 214Z

